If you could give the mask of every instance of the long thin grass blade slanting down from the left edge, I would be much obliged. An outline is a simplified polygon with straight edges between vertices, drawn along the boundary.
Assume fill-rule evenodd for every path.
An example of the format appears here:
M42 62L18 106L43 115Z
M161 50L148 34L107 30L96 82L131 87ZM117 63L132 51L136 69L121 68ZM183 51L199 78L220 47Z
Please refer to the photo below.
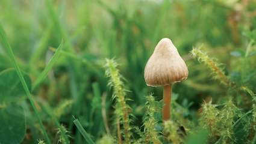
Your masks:
M10 56L11 62L13 63L14 68L17 71L17 74L19 76L20 82L22 83L22 86L23 86L23 88L25 90L25 93L26 93L26 95L28 97L28 100L30 100L31 106L33 107L33 110L36 113L36 117L37 117L37 119L39 121L39 124L40 124L40 127L41 127L42 131L43 131L43 134L45 135L46 142L47 143L51 143L51 140L49 139L49 137L48 137L48 135L46 133L45 127L43 127L42 119L40 118L39 112L36 109L33 97L30 94L30 90L28 89L28 85L25 82L25 79L22 76L20 68L19 68L19 66L18 66L18 64L17 64L17 62L15 60L15 57L14 57L14 54L13 54L13 50L11 49L11 46L10 46L10 44L7 41L7 37L5 35L4 28L2 27L1 23L0 23L0 41L1 41L2 46L4 47L4 49L7 50L7 53Z

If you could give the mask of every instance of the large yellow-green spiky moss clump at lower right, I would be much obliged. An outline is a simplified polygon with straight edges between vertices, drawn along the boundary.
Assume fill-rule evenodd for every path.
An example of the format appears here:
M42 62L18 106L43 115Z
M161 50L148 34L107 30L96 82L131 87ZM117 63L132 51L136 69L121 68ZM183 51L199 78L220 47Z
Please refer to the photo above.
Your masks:
M219 141L226 143L233 140L234 120L242 115L232 100L223 104L221 109L217 109L217 106L219 105L212 104L211 101L204 102L200 122L202 127L210 129L211 140L220 137Z

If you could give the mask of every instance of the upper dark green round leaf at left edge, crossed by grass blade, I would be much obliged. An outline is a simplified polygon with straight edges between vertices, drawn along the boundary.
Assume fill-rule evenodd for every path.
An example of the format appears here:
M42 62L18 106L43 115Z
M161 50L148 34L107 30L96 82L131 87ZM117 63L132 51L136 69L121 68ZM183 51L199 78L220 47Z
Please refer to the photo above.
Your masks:
M31 89L30 77L25 73L23 73L23 76L28 88ZM0 103L16 101L25 95L19 76L13 68L9 68L0 73Z

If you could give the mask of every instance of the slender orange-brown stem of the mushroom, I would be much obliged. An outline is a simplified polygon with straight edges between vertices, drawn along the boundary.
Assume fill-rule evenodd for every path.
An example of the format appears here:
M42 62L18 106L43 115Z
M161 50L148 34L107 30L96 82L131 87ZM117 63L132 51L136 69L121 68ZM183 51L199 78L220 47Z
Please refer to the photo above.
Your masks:
M172 85L164 86L164 106L163 106L163 121L170 119L170 99L172 97Z

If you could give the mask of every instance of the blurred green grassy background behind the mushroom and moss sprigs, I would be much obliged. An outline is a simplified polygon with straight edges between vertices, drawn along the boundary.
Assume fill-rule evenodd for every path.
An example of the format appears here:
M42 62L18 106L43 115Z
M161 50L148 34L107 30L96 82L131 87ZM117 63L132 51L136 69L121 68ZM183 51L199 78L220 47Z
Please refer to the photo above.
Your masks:
M52 9L54 11L52 11ZM114 58L129 90L133 125L140 127L145 96L154 93L162 99L162 88L146 86L144 67L161 38L170 38L189 68L189 77L175 84L176 101L188 109L184 118L197 121L203 100L212 97L221 103L230 96L211 77L211 71L192 58L190 50L202 46L225 67L225 74L237 85L256 91L256 1L249 0L1 0L0 21L7 33L17 62L32 82L46 67L61 40L64 47L47 79L33 91L33 96L48 103L58 120L72 136L73 143L83 143L73 117L91 134L93 140L105 133L102 98L110 127L113 121L112 91L105 77L105 58ZM246 60L246 47L252 44L252 56ZM11 68L8 55L0 46L0 70ZM238 105L241 97L234 97ZM43 139L30 105L23 103L27 115L27 134L23 143ZM249 107L243 106L245 109ZM40 109L39 109L40 110ZM56 139L57 127L40 111L46 130Z

